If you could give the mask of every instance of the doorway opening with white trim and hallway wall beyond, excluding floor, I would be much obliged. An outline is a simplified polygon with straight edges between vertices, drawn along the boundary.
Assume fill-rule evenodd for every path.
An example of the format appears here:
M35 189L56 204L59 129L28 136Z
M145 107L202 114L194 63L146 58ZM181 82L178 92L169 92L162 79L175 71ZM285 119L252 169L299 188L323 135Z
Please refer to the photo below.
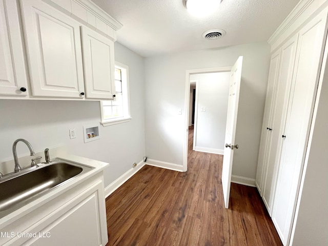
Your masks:
M186 71L185 126L187 134L183 149L183 171L187 171L189 148L194 151L223 154L231 68ZM220 88L223 84L226 87L224 89ZM225 108L223 112L219 109L220 106ZM190 138L191 135L192 138ZM219 135L219 141L217 135Z

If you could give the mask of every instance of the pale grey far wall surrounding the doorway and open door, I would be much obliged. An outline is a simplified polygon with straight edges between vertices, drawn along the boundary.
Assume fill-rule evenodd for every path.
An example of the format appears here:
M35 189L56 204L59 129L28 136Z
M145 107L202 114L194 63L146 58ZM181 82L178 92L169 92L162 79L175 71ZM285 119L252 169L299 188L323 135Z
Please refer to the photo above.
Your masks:
M182 165L186 70L233 66L243 56L233 174L255 178L270 46L253 43L145 58L146 153Z

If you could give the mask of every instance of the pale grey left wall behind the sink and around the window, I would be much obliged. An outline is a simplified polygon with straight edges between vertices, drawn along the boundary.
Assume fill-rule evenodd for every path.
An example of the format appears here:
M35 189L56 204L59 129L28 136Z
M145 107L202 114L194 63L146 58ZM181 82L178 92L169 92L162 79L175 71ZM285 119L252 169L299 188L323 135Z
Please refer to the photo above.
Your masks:
M100 122L98 101L0 99L0 162L13 159L12 144L25 138L35 152L65 145L69 153L110 163L105 186L132 168L145 155L144 60L115 43L115 60L129 66L130 122L102 127L101 139L84 143L83 126ZM69 138L75 128L77 137ZM22 143L18 155L29 154ZM51 156L50 153L50 157ZM1 167L0 167L1 171Z

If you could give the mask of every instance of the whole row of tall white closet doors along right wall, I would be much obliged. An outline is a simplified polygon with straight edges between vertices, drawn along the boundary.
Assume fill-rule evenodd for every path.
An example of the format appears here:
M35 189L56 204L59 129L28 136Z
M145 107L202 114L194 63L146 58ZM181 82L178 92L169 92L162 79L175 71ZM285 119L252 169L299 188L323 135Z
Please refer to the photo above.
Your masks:
M308 145L327 13L325 9L303 25L271 60L271 67L279 69L270 69L268 88L273 88L273 96L267 93L265 112L270 113L263 118L256 184L284 245L291 236Z

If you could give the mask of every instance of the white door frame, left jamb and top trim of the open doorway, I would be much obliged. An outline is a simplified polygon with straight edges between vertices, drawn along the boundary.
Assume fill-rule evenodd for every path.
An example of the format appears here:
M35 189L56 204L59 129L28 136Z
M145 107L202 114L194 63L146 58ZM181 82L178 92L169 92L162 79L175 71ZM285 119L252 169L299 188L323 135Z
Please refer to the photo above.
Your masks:
M189 102L190 102L190 75L198 73L218 73L218 72L230 72L232 66L229 67L216 67L216 68L199 68L199 69L187 69L186 70L186 86L185 86L185 122L184 129L185 137L183 140L183 160L182 171L186 172L188 168L188 135L189 135ZM197 88L197 85L196 85Z

